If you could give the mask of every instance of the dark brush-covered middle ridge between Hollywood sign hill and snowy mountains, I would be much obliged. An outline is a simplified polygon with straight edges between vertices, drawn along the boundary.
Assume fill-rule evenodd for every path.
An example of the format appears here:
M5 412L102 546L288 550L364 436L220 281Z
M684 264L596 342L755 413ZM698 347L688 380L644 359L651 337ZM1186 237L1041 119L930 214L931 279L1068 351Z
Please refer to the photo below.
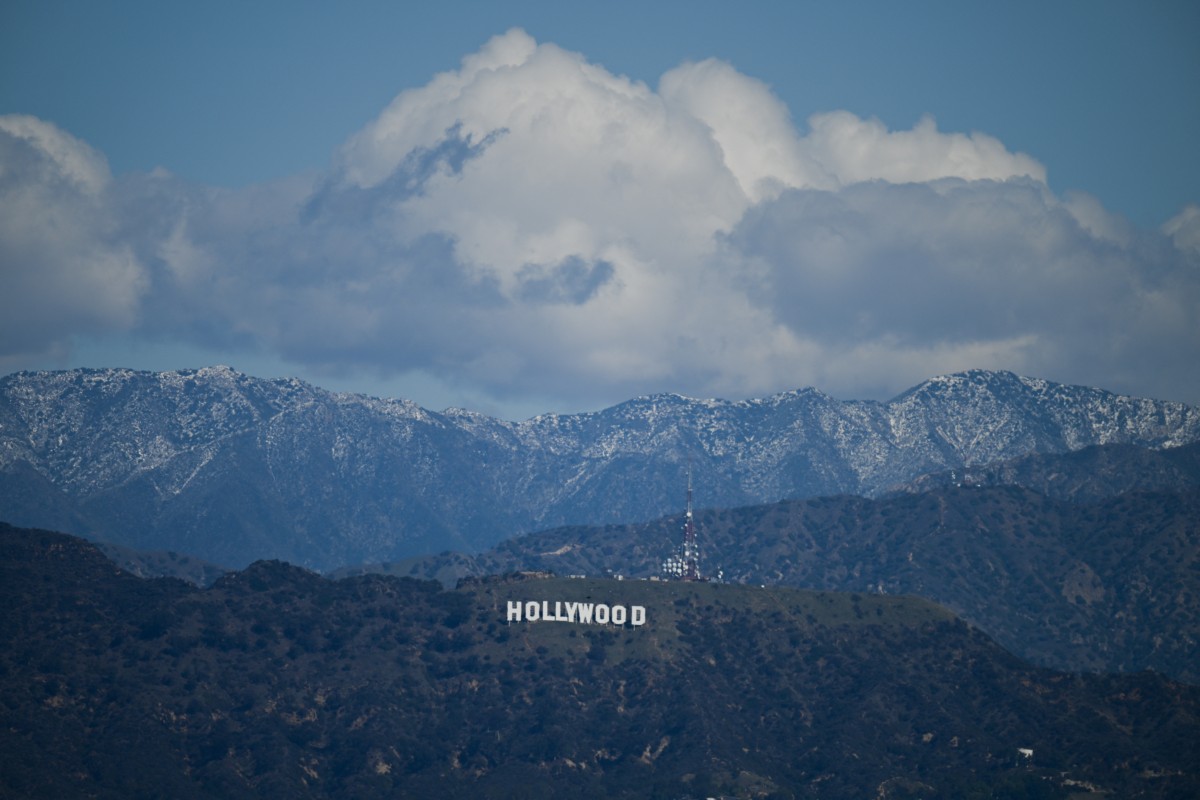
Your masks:
M1128 493L1076 505L1018 487L949 487L870 500L816 498L696 516L706 572L734 583L942 603L1034 663L1154 669L1200 682L1200 492ZM474 557L384 567L647 577L682 519L559 528Z

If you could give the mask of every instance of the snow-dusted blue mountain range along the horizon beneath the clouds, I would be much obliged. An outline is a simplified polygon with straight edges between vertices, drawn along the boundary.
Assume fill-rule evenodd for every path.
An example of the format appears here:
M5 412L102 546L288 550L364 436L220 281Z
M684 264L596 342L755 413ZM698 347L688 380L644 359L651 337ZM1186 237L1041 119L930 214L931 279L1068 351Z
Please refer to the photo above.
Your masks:
M228 367L0 379L0 518L241 566L478 551L559 524L877 495L919 475L1094 444L1200 440L1200 409L1006 372L886 402L812 389L640 397L521 422Z

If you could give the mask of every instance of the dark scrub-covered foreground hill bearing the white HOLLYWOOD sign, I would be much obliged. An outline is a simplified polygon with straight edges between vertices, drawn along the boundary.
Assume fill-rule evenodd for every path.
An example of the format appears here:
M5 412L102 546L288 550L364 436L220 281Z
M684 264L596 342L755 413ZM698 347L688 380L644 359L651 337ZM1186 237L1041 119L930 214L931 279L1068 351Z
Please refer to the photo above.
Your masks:
M4 796L1200 793L1200 688L1038 669L924 600L540 576L451 591L280 563L198 589L8 527L0 553ZM646 621L510 622L510 601Z

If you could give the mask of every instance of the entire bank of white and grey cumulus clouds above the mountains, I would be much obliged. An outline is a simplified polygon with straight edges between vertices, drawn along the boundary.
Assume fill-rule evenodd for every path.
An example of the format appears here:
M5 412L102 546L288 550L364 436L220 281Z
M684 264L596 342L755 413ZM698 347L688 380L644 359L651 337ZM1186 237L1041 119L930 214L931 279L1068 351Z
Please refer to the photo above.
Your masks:
M136 325L570 407L864 396L966 367L1200 397L1194 209L1138 230L932 119L802 128L721 61L652 89L509 31L316 180L240 192L113 179L26 118L5 136L6 205L73 231L4 230L6 260L40 265L7 296L54 320L26 349ZM59 285L76 275L97 285Z

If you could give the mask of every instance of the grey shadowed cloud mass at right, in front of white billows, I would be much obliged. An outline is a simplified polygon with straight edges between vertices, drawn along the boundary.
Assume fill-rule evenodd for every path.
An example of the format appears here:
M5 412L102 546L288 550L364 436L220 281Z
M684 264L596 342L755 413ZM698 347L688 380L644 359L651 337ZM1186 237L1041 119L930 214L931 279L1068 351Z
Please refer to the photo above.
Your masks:
M751 210L724 258L750 265L746 291L814 343L803 369L833 391L856 371L904 386L976 366L1194 392L1196 259L1097 236L1076 211L1031 180L798 190Z

